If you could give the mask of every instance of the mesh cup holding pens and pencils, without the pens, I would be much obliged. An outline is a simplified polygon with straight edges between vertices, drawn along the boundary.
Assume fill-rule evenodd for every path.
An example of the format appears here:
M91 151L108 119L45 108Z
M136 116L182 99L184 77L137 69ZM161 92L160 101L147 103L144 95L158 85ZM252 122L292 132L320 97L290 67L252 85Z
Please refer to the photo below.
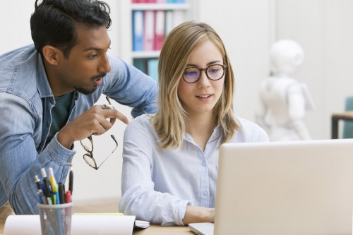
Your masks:
M70 235L73 203L44 205L38 203L42 235Z

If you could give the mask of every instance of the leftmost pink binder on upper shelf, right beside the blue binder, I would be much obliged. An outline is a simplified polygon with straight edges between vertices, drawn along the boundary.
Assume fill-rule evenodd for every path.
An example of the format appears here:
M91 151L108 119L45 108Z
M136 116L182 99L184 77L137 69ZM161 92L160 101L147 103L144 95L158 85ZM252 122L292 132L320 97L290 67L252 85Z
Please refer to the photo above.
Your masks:
M152 51L155 37L155 13L145 11L144 16L143 50Z

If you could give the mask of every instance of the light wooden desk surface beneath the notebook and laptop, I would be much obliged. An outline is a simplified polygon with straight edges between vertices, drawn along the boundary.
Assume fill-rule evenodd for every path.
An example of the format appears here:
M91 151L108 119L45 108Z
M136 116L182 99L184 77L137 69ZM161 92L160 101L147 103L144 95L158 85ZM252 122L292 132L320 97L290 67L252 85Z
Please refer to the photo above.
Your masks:
M0 220L0 235L4 234L5 222ZM195 235L190 229L185 227L164 227L157 224L152 224L147 229L138 229L133 231L133 235L177 235L189 234Z

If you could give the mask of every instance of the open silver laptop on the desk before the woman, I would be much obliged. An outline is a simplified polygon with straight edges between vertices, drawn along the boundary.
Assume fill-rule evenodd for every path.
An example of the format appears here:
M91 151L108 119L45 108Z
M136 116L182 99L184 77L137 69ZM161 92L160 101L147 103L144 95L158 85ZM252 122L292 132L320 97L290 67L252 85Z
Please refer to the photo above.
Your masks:
M353 139L225 143L218 169L215 224L196 234L352 234Z

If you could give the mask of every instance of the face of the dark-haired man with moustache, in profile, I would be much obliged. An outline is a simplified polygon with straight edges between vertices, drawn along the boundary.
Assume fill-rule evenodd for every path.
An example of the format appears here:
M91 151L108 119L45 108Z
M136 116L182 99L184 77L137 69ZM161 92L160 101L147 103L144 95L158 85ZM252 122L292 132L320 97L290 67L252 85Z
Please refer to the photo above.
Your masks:
M77 43L68 59L60 54L57 84L62 90L78 90L88 95L102 84L102 79L111 69L107 58L110 39L104 26L87 28L76 25L76 32Z

